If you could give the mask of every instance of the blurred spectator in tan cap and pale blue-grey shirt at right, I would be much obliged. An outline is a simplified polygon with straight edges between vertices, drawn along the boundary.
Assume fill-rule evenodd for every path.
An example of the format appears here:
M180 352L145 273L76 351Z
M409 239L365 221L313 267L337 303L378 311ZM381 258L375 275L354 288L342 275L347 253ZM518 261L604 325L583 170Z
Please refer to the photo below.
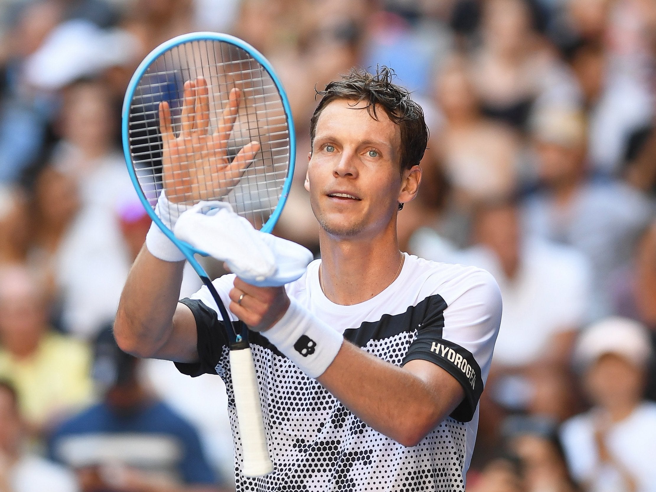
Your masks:
M611 312L611 272L625 265L651 206L632 188L590 180L583 116L560 108L536 115L533 138L543 188L527 199L530 234L579 249L592 265L590 316Z

